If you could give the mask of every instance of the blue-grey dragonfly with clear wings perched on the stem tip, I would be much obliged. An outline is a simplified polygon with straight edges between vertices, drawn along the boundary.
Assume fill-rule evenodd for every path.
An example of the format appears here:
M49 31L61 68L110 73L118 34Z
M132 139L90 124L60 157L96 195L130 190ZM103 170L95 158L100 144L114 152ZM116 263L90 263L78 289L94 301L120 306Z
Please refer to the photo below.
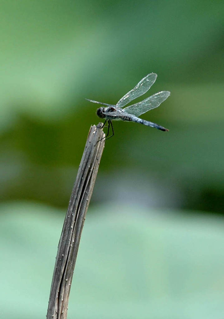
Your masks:
M156 78L157 78L156 73L150 73L146 75L146 77L142 78L141 81L138 82L138 84L131 91L126 93L117 102L116 105L86 99L90 102L104 105L98 108L96 111L96 114L100 118L105 119L105 122L100 128L102 129L105 126L105 124L108 123L107 135L103 137L102 139L105 138L105 140L107 140L108 138L114 136L114 128L112 125L112 120L136 122L136 123L144 124L147 126L155 127L156 129L161 131L165 131L165 132L168 131L168 129L166 129L165 127L153 122L143 120L139 118L138 116L146 113L149 110L152 110L153 108L158 108L158 106L160 106L160 104L163 101L165 101L170 95L169 91L161 91L161 92L155 93L141 102L138 102L130 106L127 106L126 108L123 108L132 100L135 100L139 96L145 94L150 89L150 87L155 83ZM110 127L112 129L111 136L109 136Z

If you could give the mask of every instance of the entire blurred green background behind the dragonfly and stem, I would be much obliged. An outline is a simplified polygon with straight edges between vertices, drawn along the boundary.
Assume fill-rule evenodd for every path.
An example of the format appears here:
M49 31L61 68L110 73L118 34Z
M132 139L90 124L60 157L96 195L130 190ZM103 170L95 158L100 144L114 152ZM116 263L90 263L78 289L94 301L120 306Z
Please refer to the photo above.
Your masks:
M1 316L46 315L57 243L96 105L148 73L115 122L68 318L224 316L223 1L1 1ZM138 100L141 100L139 98Z

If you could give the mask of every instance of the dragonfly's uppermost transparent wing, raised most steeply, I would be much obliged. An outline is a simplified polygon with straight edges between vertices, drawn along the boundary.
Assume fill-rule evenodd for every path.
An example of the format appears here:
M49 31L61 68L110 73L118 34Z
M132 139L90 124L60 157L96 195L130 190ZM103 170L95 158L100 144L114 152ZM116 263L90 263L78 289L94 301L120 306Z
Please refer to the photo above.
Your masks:
M132 100L138 98L142 94L146 93L153 85L157 78L156 73L150 73L145 78L141 79L140 82L128 93L126 93L116 104L117 108L123 108L126 104Z

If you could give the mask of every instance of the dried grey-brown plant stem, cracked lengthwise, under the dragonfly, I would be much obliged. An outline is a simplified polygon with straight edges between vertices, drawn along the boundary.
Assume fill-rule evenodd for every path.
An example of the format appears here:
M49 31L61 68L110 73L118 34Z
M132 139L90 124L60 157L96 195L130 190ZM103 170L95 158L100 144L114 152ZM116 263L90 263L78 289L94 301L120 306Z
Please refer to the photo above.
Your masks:
M98 127L101 126L102 123L99 123ZM97 143L105 137L103 131L98 127L93 125L90 128L77 178L71 192L58 244L47 319L67 318L69 293L78 246L104 148L104 139Z

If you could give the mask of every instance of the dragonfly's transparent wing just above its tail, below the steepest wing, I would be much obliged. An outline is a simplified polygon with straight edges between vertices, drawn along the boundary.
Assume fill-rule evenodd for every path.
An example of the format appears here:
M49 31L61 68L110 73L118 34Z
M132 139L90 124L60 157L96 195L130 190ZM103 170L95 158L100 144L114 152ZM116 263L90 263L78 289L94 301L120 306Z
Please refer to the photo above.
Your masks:
M147 99L132 104L126 108L124 108L123 110L126 113L129 114L133 114L135 116L139 116L143 113L146 113L149 110L152 110L153 108L158 108L158 106L160 106L160 104L165 101L168 96L170 95L169 91L161 91L158 92L156 94L151 95L150 97L148 97Z

